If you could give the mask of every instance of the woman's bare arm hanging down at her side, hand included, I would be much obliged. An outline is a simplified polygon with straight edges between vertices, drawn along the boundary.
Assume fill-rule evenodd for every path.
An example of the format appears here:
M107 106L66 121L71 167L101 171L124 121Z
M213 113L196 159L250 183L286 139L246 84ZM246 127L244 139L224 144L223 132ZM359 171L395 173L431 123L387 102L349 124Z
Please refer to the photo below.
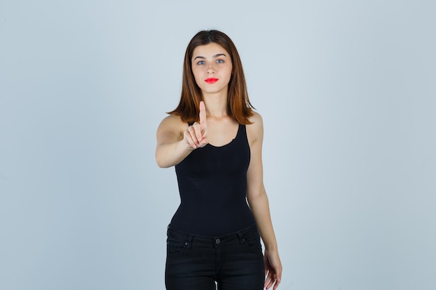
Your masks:
M262 143L263 121L255 113L253 124L247 125L251 159L247 171L247 201L256 220L260 236L265 245L265 287L277 289L281 282L282 266L277 248L277 240L272 227L270 204L263 185Z

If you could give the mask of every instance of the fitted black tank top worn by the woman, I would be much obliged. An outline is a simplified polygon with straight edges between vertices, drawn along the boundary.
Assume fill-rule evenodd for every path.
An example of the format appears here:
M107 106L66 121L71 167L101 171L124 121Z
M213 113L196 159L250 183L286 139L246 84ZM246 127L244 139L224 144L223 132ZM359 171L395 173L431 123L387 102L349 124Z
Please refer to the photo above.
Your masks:
M211 144L191 152L176 165L180 206L173 229L203 236L237 232L255 223L245 199L250 147L245 125L221 147Z

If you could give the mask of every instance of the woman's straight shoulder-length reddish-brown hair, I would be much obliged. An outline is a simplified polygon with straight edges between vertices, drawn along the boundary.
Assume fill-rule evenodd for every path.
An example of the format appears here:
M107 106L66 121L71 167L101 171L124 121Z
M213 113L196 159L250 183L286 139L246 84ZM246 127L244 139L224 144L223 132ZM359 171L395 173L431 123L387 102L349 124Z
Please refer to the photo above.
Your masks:
M198 121L198 113L200 111L199 104L202 100L201 90L198 88L192 73L192 54L194 49L199 45L208 45L214 42L221 45L232 61L232 74L228 82L227 93L227 113L240 124L251 124L249 118L253 115L254 106L251 105L245 83L244 71L238 50L236 50L233 41L221 31L205 30L194 35L189 42L185 52L185 62L183 63L183 80L182 94L180 103L174 111L169 114L180 116L183 122Z

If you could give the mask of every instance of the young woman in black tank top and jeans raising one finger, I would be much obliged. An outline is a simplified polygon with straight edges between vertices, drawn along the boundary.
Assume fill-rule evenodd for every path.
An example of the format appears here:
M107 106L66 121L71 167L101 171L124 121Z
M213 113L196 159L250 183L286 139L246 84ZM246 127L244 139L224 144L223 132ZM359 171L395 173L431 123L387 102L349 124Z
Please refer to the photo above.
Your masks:
M157 129L157 164L176 167L181 200L167 232L166 289L275 290L282 267L263 186L263 122L232 40L198 32L182 77L180 103Z

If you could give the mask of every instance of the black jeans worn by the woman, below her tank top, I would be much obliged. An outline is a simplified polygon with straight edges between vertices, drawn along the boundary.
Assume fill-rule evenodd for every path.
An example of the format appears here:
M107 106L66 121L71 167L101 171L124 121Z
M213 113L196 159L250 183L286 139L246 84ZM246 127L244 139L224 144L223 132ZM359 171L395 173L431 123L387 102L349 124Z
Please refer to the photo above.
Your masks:
M256 225L219 237L168 227L167 290L262 290L265 265Z

